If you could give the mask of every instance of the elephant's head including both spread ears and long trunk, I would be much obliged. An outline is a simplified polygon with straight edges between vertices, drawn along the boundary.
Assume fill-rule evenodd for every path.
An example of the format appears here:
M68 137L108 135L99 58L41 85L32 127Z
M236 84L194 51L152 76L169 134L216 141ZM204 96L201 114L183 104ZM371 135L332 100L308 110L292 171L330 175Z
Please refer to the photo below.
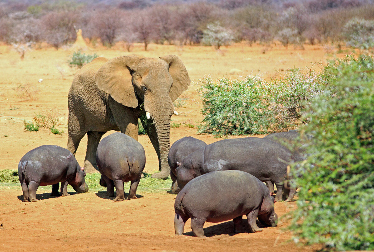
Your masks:
M161 172L157 176L166 178L170 172L167 156L173 101L190 85L180 58L175 55L160 58L120 56L105 63L94 80L99 89L127 107L137 108L144 103L144 113L153 120L159 144Z

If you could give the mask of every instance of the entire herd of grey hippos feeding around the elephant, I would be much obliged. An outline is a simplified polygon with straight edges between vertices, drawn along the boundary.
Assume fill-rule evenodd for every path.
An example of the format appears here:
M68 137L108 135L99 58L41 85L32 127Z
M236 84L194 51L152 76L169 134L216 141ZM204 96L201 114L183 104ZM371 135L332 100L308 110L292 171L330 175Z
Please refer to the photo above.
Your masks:
M224 139L206 144L187 136L172 144L168 162L171 168L172 192L178 193L174 209L175 234L183 234L184 224L191 218L191 229L204 236L203 225L233 219L235 232L240 232L242 216L246 215L250 232L264 226L275 227L274 203L293 199L296 188L283 187L288 165L303 159L302 147L290 151L286 147L300 134L291 130L273 133L264 138ZM145 166L142 145L120 132L99 142L96 163L101 173L100 185L107 195L125 200L124 182L131 181L126 198L136 199L136 190ZM88 191L86 173L65 148L42 145L26 153L18 165L23 201L35 202L39 185L52 185L52 195L68 196L70 184L78 193ZM264 184L263 182L266 182ZM275 198L274 184L277 188Z

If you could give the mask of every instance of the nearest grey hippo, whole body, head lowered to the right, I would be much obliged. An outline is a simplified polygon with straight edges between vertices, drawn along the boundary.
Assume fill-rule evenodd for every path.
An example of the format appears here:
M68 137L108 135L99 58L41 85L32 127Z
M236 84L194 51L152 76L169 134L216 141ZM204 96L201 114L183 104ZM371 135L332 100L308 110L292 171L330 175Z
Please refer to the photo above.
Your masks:
M214 171L194 178L178 193L175 203L175 235L182 235L184 224L191 218L191 229L197 237L204 237L203 226L208 222L233 219L234 231L242 231L242 216L246 215L250 232L276 227L274 197L260 180L240 170Z

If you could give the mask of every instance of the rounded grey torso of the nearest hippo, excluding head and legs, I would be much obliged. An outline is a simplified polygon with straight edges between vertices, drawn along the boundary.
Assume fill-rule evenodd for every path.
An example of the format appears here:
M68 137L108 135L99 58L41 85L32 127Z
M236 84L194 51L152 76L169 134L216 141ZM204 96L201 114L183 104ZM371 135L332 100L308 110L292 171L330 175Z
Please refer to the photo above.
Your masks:
M220 222L259 206L266 186L240 170L214 171L188 182L175 199L175 212ZM269 194L269 193L268 193Z

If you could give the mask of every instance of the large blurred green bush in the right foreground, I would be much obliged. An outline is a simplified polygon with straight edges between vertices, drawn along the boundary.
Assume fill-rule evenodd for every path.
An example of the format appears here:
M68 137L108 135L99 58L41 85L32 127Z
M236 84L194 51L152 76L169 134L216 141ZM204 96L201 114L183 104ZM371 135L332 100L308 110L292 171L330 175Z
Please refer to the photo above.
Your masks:
M300 191L289 228L295 241L326 251L374 249L374 60L347 56L324 76L331 88L301 129L314 136L307 160L291 169Z

